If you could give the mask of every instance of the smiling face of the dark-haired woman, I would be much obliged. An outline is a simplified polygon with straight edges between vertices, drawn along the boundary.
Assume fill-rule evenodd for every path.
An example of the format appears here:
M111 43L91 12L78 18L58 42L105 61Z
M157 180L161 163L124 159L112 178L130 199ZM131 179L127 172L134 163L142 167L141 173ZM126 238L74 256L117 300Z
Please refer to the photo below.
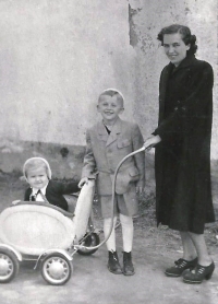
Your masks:
M169 60L178 67L180 62L186 57L186 51L190 49L190 45L185 45L182 40L182 36L179 33L165 34L164 35L164 48L165 54Z

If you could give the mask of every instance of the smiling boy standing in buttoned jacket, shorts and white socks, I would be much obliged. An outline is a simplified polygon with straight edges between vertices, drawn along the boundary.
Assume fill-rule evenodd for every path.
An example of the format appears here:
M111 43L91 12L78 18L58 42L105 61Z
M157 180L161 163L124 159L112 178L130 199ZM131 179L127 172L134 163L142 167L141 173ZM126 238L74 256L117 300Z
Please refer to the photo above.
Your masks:
M98 100L97 109L102 120L87 130L86 154L82 179L82 187L88 178L96 178L98 200L104 218L105 236L110 231L112 212L112 179L116 167L120 161L131 152L143 147L143 137L136 124L121 120L123 113L123 96L113 89L104 91ZM109 259L108 269L114 274L134 274L132 264L133 219L137 213L138 203L136 191L144 189L144 153L128 159L119 169L116 183L116 208L113 214L113 229L106 242ZM116 250L114 225L117 215L120 215L123 238L123 269L119 264Z

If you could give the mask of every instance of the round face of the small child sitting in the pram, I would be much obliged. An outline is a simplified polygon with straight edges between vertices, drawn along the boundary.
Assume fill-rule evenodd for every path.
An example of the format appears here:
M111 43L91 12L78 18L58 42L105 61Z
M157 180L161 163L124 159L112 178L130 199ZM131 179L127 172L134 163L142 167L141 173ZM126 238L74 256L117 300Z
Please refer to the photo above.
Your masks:
M32 188L41 189L48 184L48 176L44 167L29 169L27 172L27 182Z

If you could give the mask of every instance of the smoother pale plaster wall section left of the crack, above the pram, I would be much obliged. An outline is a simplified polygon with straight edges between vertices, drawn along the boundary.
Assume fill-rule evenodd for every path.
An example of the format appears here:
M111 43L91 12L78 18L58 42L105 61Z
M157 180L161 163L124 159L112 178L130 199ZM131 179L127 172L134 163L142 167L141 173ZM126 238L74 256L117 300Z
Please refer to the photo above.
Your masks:
M1 137L85 144L99 93L132 118L135 51L126 1L0 1Z

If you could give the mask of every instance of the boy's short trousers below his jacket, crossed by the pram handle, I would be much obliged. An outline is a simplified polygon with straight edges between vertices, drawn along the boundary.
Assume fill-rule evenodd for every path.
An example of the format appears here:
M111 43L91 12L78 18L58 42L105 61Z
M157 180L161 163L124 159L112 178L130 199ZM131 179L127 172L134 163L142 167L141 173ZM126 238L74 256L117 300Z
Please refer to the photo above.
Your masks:
M138 200L135 192L135 187L123 195L114 196L114 212L113 215L119 213L133 217L138 212ZM112 215L112 196L98 196L98 201L101 208L101 215L104 219L111 218Z

